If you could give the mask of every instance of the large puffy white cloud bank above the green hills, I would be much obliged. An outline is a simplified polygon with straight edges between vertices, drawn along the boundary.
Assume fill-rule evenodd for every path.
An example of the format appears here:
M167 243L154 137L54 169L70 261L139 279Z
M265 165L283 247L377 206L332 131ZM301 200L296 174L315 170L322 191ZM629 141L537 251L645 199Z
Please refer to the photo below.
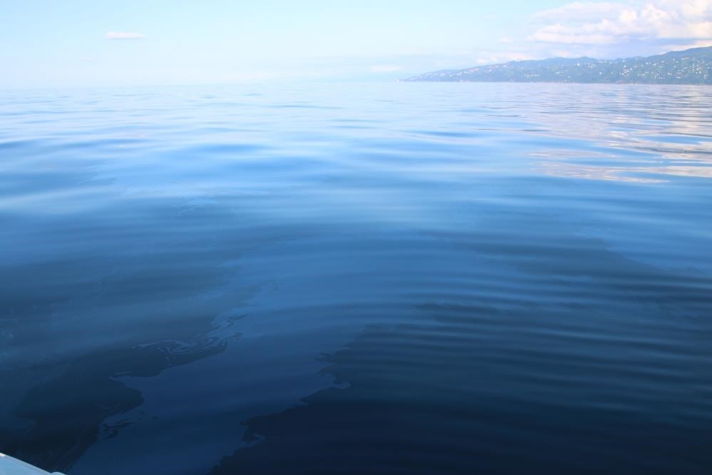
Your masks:
M634 0L581 2L535 15L530 39L544 43L612 45L669 41L694 45L712 40L712 1Z

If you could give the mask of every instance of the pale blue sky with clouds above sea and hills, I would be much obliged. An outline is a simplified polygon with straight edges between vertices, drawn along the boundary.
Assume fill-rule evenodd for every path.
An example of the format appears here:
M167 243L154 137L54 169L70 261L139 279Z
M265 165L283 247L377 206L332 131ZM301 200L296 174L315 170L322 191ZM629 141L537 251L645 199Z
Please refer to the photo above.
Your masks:
M712 46L712 0L0 0L0 88L392 81Z

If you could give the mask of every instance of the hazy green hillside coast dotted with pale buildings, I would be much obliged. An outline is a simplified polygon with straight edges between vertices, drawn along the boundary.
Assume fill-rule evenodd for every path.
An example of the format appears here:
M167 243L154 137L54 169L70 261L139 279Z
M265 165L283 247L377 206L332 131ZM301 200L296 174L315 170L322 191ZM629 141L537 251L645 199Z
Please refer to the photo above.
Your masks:
M712 46L612 60L582 57L510 61L467 69L433 71L403 81L712 85Z

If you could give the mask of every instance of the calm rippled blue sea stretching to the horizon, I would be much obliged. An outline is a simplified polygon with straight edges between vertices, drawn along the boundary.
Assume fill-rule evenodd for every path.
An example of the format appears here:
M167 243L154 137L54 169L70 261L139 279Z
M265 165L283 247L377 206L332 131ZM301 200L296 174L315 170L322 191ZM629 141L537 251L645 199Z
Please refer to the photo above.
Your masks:
M0 93L0 450L712 471L712 89Z

